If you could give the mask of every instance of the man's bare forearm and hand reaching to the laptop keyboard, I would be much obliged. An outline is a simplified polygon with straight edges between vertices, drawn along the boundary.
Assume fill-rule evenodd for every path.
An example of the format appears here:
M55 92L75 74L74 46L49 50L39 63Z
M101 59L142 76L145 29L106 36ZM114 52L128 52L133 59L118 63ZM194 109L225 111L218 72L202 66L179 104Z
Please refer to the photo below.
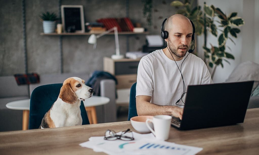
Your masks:
M183 109L171 105L156 105L150 103L151 96L140 95L136 97L138 115L173 115L182 119Z

